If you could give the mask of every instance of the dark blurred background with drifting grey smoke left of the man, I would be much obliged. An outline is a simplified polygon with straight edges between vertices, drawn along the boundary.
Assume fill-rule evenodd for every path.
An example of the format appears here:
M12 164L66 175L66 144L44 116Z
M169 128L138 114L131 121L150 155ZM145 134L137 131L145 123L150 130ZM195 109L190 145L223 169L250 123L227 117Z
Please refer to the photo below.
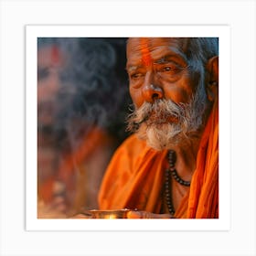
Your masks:
M128 136L127 38L37 38L37 197L68 216L97 208Z

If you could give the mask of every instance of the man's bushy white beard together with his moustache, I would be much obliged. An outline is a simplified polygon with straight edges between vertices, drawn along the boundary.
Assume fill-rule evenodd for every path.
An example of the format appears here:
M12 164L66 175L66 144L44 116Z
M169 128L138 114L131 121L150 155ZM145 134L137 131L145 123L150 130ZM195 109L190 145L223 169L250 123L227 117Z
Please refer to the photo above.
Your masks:
M176 104L165 99L144 102L128 116L127 130L137 133L155 150L170 149L200 133L208 105L206 93L200 93L198 89L187 104Z

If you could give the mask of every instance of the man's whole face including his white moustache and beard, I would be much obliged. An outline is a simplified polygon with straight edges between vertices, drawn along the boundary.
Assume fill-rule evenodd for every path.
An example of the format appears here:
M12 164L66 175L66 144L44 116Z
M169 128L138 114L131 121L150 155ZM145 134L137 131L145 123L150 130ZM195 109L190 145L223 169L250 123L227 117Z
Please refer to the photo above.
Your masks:
M188 65L186 49L187 39L181 38L130 38L127 44L135 105L128 128L133 131L137 124L139 136L157 150L181 143L203 123L203 77Z

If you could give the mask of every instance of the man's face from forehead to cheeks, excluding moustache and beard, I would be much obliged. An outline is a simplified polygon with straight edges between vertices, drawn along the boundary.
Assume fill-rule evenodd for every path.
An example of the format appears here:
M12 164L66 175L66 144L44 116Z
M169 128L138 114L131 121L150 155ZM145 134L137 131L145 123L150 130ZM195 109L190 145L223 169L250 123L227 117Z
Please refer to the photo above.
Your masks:
M178 38L130 38L127 45L127 71L133 103L140 107L155 98L187 103L197 80L189 74Z

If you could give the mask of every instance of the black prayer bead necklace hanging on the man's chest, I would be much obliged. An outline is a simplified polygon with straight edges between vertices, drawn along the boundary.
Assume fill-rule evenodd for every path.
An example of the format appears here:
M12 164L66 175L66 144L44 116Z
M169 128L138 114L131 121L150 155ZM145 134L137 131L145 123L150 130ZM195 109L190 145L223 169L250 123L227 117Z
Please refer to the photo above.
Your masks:
M168 163L170 165L169 169L165 171L165 198L168 210L171 215L175 214L175 208L172 202L172 193L171 193L171 177L173 176L176 182L178 182L182 186L189 187L190 181L183 180L178 174L176 173L176 152L170 150L168 152Z

